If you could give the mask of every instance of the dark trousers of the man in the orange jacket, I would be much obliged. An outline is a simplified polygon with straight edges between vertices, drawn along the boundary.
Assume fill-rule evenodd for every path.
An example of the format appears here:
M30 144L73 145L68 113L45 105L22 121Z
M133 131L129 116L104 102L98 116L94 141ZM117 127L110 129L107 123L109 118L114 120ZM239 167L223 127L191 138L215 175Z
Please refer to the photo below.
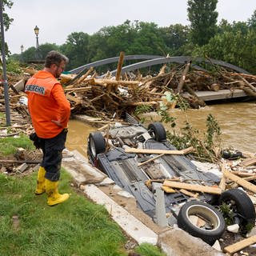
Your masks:
M62 167L62 150L65 149L67 129L54 138L39 138L43 157L41 166L46 170L45 178L57 182Z

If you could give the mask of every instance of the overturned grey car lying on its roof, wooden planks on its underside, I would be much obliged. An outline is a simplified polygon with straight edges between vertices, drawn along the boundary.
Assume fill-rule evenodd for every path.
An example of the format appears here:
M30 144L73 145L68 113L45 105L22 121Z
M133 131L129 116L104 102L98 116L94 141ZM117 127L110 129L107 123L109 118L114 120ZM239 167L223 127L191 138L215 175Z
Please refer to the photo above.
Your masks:
M162 123L153 122L146 129L129 115L127 121L126 125L116 123L110 127L105 136L98 131L90 133L88 158L93 166L133 194L138 207L155 222L170 226L176 222L210 245L222 237L226 218L232 224L237 223L242 232L254 226L254 205L244 191L201 191L204 187L216 189L220 178L200 172L189 158L180 154L186 150L178 152L170 144ZM191 199L192 193L185 189L165 186L165 181L198 186L197 198ZM163 209L158 209L161 205ZM222 206L228 210L221 211Z

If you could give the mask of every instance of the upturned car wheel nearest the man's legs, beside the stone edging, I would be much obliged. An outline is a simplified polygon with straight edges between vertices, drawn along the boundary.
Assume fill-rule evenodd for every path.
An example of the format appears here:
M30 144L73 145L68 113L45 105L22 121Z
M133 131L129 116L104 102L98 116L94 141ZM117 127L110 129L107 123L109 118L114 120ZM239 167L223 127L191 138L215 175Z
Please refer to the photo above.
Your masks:
M104 153L106 150L105 138L100 132L89 134L88 138L88 151L92 162L95 162L97 155Z

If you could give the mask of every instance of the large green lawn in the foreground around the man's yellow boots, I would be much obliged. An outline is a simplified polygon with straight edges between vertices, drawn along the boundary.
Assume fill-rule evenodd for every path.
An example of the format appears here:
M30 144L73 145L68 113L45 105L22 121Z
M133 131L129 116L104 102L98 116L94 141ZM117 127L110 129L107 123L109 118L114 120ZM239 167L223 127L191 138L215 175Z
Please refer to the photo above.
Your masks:
M59 190L70 193L70 199L57 206L46 205L46 194L34 195L36 178L36 173L22 178L0 174L0 255L127 255L120 227L103 206L72 190L69 174L62 171ZM135 250L142 256L164 255L149 244Z

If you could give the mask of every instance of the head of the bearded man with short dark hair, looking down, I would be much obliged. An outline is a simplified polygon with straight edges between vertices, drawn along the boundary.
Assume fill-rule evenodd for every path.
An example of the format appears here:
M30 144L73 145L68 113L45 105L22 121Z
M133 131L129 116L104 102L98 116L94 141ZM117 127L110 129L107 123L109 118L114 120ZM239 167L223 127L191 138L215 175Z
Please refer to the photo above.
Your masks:
M56 50L51 50L46 55L45 70L53 74L55 78L59 78L68 62L69 59L65 55Z

